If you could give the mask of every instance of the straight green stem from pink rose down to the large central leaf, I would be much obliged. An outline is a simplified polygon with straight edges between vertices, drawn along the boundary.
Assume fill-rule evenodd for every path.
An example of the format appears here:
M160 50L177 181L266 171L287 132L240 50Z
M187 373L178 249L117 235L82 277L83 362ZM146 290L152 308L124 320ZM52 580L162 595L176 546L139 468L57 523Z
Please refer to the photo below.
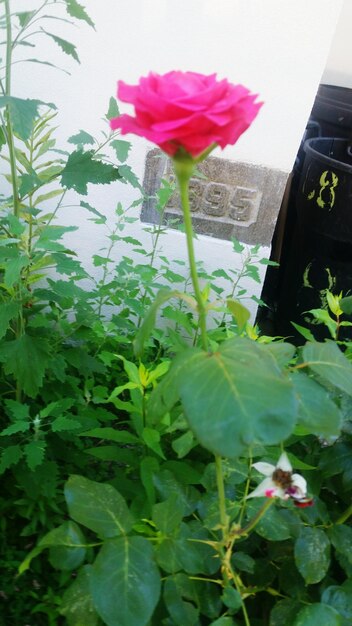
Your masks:
M189 160L189 161L188 160L187 161L174 160L174 168L175 168L175 173L176 173L176 177L177 177L177 181L178 181L178 185L180 189L192 285L193 285L194 295L198 304L199 327L200 327L200 333L201 333L201 339L202 339L202 347L204 350L207 350L208 348L208 337L207 337L207 329L206 329L207 311L204 305L202 292L199 286L196 258L195 258L194 246L193 246L193 227L192 227L191 209L190 209L190 203L189 203L189 181L193 174L195 163L192 160Z

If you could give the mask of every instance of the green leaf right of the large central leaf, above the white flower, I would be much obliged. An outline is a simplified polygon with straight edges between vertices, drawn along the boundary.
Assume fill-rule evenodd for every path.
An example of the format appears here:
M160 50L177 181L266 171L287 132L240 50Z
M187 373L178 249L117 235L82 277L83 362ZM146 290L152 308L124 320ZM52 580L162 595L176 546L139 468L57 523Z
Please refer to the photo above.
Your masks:
M291 380L299 400L298 424L318 437L339 435L342 416L327 389L299 372Z

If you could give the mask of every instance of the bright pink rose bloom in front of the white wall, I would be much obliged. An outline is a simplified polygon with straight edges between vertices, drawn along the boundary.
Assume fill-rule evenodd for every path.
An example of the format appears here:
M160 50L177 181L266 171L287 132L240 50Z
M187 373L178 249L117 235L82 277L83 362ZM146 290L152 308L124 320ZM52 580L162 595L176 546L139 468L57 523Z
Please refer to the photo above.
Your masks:
M197 157L212 144L236 143L262 106L243 85L196 72L151 72L136 86L119 81L117 95L134 105L135 117L116 117L111 128L145 137L170 156L184 148Z

